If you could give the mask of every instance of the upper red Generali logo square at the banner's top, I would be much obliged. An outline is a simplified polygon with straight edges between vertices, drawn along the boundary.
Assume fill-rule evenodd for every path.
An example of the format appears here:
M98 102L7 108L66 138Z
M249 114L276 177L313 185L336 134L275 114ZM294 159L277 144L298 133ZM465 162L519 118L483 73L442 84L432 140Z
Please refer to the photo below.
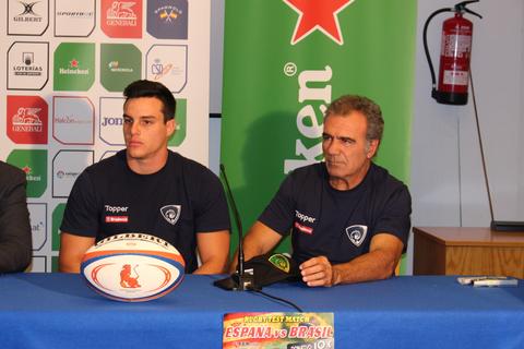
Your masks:
M142 37L142 0L102 0L102 31L108 37Z

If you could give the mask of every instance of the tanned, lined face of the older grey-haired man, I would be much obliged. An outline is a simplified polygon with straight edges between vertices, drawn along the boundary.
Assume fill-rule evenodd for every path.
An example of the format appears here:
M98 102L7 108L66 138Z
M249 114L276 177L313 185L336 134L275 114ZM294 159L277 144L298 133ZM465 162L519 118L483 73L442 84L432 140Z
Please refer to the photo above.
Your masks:
M368 142L366 131L366 117L359 111L324 119L322 151L335 189L352 189L366 176L379 144L378 140Z

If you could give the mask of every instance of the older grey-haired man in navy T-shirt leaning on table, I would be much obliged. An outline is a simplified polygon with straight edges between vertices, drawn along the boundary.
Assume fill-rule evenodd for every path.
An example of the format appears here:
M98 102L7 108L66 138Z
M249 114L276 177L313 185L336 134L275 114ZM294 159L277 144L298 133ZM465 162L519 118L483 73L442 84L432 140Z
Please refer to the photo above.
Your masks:
M334 100L324 118L325 161L284 180L245 238L246 260L271 251L290 231L308 286L390 277L407 244L412 206L406 185L371 161L383 124L368 98Z

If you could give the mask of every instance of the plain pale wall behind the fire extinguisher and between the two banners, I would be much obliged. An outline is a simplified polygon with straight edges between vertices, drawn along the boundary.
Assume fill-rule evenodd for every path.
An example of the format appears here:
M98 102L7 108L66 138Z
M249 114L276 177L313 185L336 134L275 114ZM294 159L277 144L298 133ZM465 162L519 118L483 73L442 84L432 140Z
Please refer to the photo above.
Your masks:
M437 104L430 97L431 79L424 56L426 19L457 2L418 1L409 185L414 226L485 227L491 221L471 91L466 106ZM469 8L484 16L466 15L474 22L472 70L495 218L524 220L524 1L481 0ZM221 112L224 0L213 1L212 16L211 111ZM436 70L442 21L450 16L438 15L428 31ZM211 120L210 132L210 166L217 171L219 119Z

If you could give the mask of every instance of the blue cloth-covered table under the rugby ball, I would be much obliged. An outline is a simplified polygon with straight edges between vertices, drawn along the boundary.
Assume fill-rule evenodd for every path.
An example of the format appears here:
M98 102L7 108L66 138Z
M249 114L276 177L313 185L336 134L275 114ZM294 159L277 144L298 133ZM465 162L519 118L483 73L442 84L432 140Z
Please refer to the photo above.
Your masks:
M92 291L80 275L0 276L2 348L221 348L229 312L295 312L253 292L213 287L221 276L186 276L171 293L124 303ZM522 284L522 282L521 282ZM523 348L524 286L473 288L455 277L403 276L264 291L305 312L334 312L336 348Z

